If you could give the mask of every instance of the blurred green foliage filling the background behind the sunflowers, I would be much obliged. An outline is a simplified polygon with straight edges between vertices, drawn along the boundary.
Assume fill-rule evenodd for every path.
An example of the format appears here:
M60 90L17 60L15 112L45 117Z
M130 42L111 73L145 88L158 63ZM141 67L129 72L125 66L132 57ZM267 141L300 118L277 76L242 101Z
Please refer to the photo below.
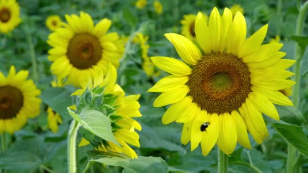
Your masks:
M0 35L0 71L7 74L9 67L15 65L17 70L29 70L29 76L32 78L32 63L29 51L29 42L31 42L34 47L39 74L37 86L42 90L41 98L44 105L41 108L40 116L29 119L27 125L13 136L9 137L7 135L9 149L0 153L0 168L5 168L8 172L42 172L44 166L54 172L67 172L66 139L71 117L67 113L66 107L73 104L70 94L74 91L74 88L72 86L65 86L64 89L51 88L50 81L55 76L51 74L51 62L47 60L50 47L46 41L50 31L46 28L45 20L49 15L59 15L65 21L65 14L79 14L80 11L84 11L91 15L95 23L106 17L112 20L109 32L118 32L119 35L128 36L138 31L144 35L149 35L150 49L148 56L179 58L173 45L163 34L168 32L180 33L181 25L179 22L183 15L197 14L199 11L209 15L215 6L218 7L222 14L224 7L240 4L245 10L247 35L251 35L261 26L268 23L268 32L263 43L267 43L275 35L280 35L281 42L284 44L282 51L287 53L285 58L294 59L295 42L290 37L294 35L298 14L295 1L161 1L163 5L163 14L161 15L155 13L152 7L153 1L147 1L144 9L137 9L133 0L22 0L18 2L21 7L23 21L11 33ZM282 2L281 11L278 10L277 6L279 2ZM307 28L304 30L304 35L306 34ZM118 70L118 83L123 86L124 91L127 94L141 94L139 102L142 117L136 118L136 120L141 122L142 131L139 133L140 148L134 148L137 154L140 156L161 157L163 160L160 159L160 162L165 164L166 161L169 171L173 172L216 172L217 147L207 157L202 156L200 147L190 152L189 144L183 146L180 143L182 124L175 122L169 125L162 124L161 118L166 108L152 107L152 103L158 94L146 93L146 91L166 73L162 73L160 77L148 77L142 70L141 63L139 46L131 45L130 49L126 51ZM305 58L302 63L303 67L306 67L307 59ZM307 69L302 68L301 74L306 74L305 70ZM303 76L300 109L304 119L307 119L308 116L306 81L307 78ZM57 134L53 134L47 128L47 105L62 116L63 123L59 125ZM296 116L296 113L298 118L293 117ZM289 114L293 116L288 120ZM281 117L286 116L286 119L282 118L285 122L298 125L290 127L292 128L291 135L298 135L297 139L302 139L303 141L293 142L294 144L300 144L302 153L308 156L308 142L306 140L308 128L305 123L303 125L305 133L301 131L299 126L305 120L302 119L300 112L281 108L280 115ZM282 172L285 170L287 142L284 138L290 137L290 134L288 135L289 127L281 124L272 125L272 123L275 123L274 120L265 116L264 118L267 122L270 137L262 145L257 145L251 138L253 147L251 150L244 149L238 145L235 152L229 157L229 172L251 172L253 170L250 164L258 167L263 172ZM279 129L282 129L282 131ZM284 132L284 129L288 130ZM279 134L282 134L284 138ZM92 158L91 153L89 154L88 152L87 154L87 151L91 149L90 146L78 148L80 170L88 163L88 156ZM301 157L300 159L302 171L307 172L307 158ZM89 171L121 172L123 170L121 166L123 165L119 163L120 161L112 160L112 163L105 166L102 166L101 163L95 163ZM151 160L146 160L146 162L148 164L153 163ZM166 167L167 164L164 166ZM163 170L164 167L158 169L158 171ZM126 171L132 172L131 169Z

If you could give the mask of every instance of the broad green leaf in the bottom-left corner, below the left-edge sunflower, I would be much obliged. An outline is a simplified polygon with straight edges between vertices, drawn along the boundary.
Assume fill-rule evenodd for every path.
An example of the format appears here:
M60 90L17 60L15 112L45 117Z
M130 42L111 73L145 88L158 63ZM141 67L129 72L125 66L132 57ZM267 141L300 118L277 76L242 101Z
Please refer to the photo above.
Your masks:
M41 164L36 155L25 151L10 151L0 154L0 167L9 170L34 170Z

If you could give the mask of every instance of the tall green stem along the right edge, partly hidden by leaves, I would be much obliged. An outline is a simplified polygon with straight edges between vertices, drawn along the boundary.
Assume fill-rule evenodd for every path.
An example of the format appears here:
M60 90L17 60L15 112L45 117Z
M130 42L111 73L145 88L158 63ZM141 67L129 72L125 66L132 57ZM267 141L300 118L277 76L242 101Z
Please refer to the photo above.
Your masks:
M303 24L305 21L306 13L308 11L308 1L306 1L302 7L299 9L296 28L295 28L295 35L301 35L303 30ZM300 49L299 45L295 43L295 53L294 57L296 58L296 65L294 68L295 72L295 86L293 87L293 104L296 108L299 108L299 101L300 101L300 65L301 59L303 57L303 51ZM296 157L296 150L293 146L288 144L288 157L287 157L287 173L294 172L294 161Z

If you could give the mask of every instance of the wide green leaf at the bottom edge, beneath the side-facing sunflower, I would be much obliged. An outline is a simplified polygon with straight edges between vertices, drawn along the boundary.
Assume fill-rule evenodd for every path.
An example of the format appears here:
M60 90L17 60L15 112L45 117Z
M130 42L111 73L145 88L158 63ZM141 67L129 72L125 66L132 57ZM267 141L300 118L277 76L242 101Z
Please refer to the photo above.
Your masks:
M93 155L93 153L91 153ZM136 173L136 172L147 172L147 173L156 173L156 172L168 172L168 166L165 160L160 157L143 157L139 156L138 158L124 158L124 157L114 157L113 153L101 153L94 156L89 160L87 168L93 162L103 163L108 166L122 166L124 167L122 172L125 173ZM87 169L86 168L86 169ZM86 170L84 170L85 172Z

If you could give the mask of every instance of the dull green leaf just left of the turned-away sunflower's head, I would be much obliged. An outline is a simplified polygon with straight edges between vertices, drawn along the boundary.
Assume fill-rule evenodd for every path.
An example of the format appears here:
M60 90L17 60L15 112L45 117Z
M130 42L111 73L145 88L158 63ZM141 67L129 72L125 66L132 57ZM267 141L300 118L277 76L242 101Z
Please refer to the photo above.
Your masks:
M49 88L42 93L41 99L55 112L68 116L66 108L73 105L70 94L65 88Z

